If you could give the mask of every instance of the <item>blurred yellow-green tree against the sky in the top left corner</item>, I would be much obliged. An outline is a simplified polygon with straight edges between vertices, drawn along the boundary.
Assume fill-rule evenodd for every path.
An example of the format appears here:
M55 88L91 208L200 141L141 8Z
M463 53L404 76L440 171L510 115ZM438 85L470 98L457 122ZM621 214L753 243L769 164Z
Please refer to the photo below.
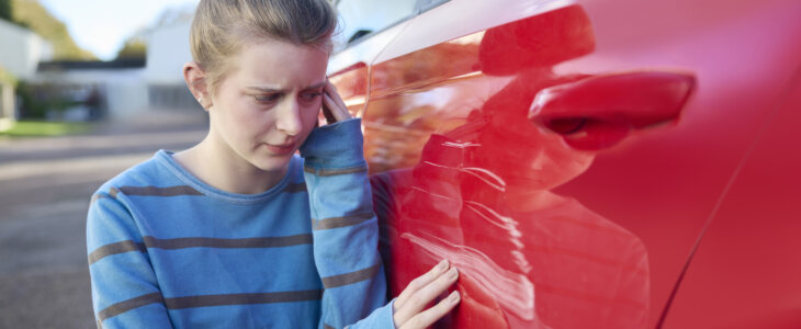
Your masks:
M53 44L55 59L97 60L97 57L78 47L67 31L67 26L54 18L37 0L0 0L11 1L13 21L49 41Z

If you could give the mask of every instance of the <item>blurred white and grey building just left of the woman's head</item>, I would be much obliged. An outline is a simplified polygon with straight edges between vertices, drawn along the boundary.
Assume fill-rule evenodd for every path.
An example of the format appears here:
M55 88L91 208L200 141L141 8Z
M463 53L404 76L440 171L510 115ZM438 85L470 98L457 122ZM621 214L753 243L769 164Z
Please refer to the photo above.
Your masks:
M125 120L153 111L199 111L201 107L183 81L182 67L192 60L189 30L192 8L162 14L155 26L140 32L147 43L146 60L49 61L38 66L30 81L55 86L63 97L82 102L58 120L100 116ZM92 94L99 104L87 104Z

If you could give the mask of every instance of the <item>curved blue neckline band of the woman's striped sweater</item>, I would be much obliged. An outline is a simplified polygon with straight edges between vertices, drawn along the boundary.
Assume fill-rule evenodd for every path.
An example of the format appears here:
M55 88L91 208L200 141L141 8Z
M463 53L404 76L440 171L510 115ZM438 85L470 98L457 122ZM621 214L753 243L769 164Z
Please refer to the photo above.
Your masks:
M267 190L261 193L257 194L241 194L241 193L232 193L227 191L219 190L217 188L214 188L203 181L201 181L199 178L187 171L181 164L176 161L174 158L172 158L173 152L160 149L156 152L156 160L165 166L172 174L174 174L179 180L183 181L187 185L192 186L192 189L198 190L198 192L203 193L203 195L218 198L225 202L229 203L260 203L268 201L279 193L281 193L284 189L286 189L286 185L289 184L290 177L295 171L296 163L296 157L292 157L292 160L290 161L290 167L286 170L286 173L281 179L281 181L275 184L274 186L270 188L270 190Z

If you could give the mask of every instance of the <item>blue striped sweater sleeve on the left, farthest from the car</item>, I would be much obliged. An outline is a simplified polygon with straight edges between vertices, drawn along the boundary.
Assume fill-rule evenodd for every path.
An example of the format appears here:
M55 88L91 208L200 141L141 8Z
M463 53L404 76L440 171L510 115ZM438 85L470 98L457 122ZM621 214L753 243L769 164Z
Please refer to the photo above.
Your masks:
M116 196L97 192L87 216L98 328L172 328L143 237Z

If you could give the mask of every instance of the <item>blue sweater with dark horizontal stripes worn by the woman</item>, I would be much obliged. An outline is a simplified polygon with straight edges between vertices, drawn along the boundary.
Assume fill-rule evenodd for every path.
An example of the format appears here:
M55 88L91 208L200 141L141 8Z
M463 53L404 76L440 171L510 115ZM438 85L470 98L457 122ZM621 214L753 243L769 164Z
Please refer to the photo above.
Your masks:
M87 224L98 326L393 328L360 124L316 128L260 194L165 150L103 184Z

